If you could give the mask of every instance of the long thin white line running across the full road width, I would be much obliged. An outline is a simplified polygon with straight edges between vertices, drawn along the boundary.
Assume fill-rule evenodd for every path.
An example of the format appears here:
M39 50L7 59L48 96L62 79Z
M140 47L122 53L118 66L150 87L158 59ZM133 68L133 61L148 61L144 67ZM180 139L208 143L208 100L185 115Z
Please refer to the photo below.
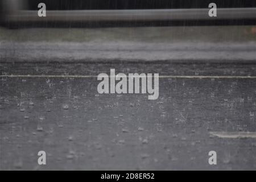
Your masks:
M24 77L24 78L97 78L97 76L94 76L94 75L0 75L0 77L9 77L9 78L16 78L16 77ZM256 79L256 76L173 76L173 75L167 75L167 76L159 76L159 78Z

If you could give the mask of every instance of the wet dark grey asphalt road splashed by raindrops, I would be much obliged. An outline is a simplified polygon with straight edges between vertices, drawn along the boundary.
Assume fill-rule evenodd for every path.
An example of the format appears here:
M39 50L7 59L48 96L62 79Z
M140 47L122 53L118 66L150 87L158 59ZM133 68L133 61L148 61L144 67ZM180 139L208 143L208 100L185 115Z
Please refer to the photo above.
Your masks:
M158 100L98 94L96 77L159 73ZM256 169L255 64L1 63L0 169ZM22 75L45 75L23 77ZM233 76L216 78L210 76ZM236 138L211 132L236 132ZM255 137L255 135L252 135ZM47 152L39 166L38 151ZM217 152L210 166L208 152Z

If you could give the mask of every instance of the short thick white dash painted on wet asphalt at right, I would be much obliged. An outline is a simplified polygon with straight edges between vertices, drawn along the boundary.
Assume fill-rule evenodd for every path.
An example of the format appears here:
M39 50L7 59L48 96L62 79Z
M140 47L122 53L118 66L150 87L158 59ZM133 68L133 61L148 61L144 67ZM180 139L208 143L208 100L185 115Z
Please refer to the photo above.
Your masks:
M216 131L210 132L210 135L219 137L219 138L256 138L255 132L224 132Z

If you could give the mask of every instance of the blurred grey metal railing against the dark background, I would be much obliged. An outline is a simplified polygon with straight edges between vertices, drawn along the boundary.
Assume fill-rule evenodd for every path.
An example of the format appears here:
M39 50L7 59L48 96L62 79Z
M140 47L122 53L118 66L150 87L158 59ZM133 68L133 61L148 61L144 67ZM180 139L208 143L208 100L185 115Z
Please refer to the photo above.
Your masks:
M255 19L256 8L217 9L217 17L209 9L164 10L49 10L46 17L38 11L11 11L7 22L91 22L91 21L157 21L157 20L228 20Z

